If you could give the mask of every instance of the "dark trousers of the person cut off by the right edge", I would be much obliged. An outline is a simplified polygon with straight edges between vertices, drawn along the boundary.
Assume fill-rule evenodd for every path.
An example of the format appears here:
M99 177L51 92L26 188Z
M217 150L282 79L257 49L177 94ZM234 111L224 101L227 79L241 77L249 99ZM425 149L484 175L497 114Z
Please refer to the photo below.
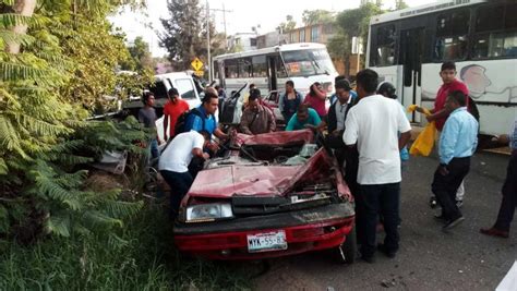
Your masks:
M494 228L509 231L509 225L514 219L515 207L517 206L517 150L514 150L509 158L502 192L503 201Z

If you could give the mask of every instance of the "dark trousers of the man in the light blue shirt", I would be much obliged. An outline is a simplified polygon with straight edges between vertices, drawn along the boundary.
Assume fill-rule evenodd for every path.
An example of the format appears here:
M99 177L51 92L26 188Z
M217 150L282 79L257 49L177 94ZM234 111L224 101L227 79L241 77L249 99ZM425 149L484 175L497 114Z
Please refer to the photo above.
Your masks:
M440 173L440 167L434 172L434 180L431 189L436 196L437 203L442 206L442 215L445 219L456 219L461 216L456 206L456 192L461 181L469 173L470 157L454 158L447 165L448 173Z

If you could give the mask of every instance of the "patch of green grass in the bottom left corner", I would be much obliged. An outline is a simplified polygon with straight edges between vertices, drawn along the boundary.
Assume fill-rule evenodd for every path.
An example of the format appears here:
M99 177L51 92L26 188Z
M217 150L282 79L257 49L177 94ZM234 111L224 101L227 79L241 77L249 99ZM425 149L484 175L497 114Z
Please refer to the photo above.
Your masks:
M165 211L149 205L128 221L112 245L100 238L51 238L15 243L0 254L0 290L243 290L240 264L188 258L173 247ZM5 248L4 248L5 251Z

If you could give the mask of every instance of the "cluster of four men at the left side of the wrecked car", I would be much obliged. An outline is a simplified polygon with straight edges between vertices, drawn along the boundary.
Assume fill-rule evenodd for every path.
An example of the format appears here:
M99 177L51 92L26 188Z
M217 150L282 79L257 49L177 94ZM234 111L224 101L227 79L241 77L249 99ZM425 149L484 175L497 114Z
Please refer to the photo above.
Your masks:
M168 102L164 106L164 137L158 135L151 141L153 158L159 158L158 169L161 177L171 189L172 216L177 216L181 199L191 187L195 175L202 169L204 160L217 151L219 141L229 137L217 123L215 113L219 105L219 96L215 88L207 88L201 106L189 109L176 88L168 90ZM156 129L156 111L153 108L154 96L145 93L144 108L139 112L139 120L146 128ZM165 144L161 153L158 144Z

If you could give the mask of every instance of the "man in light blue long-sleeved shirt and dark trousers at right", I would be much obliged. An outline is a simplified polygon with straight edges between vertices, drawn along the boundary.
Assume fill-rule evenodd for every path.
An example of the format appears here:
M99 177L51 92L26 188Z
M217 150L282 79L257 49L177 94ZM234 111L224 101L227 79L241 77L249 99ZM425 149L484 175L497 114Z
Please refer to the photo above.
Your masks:
M445 107L452 112L440 137L440 166L434 173L432 191L442 206L443 230L465 220L456 205L456 191L470 170L470 156L478 146L478 121L467 111L467 96L456 90L448 95Z

